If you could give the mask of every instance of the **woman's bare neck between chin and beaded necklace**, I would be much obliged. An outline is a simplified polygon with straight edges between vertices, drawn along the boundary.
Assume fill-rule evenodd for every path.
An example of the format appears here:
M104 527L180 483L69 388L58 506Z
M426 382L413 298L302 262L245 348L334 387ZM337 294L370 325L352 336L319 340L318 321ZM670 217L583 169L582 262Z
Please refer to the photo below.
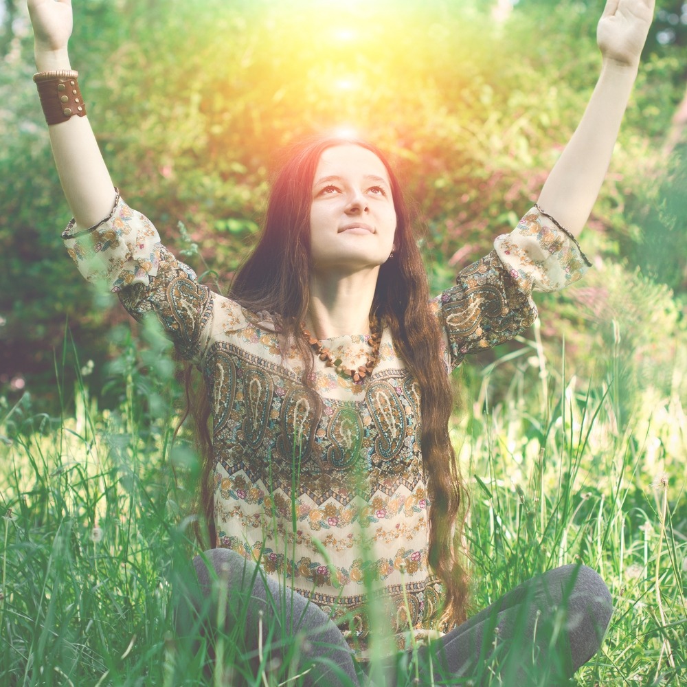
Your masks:
M348 275L313 273L306 326L318 339L369 334L378 274L379 267Z

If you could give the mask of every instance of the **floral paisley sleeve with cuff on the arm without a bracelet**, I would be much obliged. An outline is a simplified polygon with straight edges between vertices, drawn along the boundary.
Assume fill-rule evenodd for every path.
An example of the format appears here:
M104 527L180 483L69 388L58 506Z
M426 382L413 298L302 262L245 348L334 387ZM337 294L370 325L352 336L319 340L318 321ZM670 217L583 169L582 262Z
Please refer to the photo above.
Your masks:
M532 291L558 291L580 279L589 260L574 236L533 207L486 258L466 267L434 300L451 368L468 353L513 339L537 317Z

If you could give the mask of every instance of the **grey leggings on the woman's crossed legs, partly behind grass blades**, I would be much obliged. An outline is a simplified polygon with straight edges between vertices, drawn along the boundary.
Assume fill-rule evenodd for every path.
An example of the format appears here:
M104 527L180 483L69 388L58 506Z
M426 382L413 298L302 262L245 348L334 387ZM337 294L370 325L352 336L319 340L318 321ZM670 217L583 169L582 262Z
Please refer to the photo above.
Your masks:
M594 570L564 565L519 585L416 655L398 653L365 666L326 613L266 578L255 563L212 549L196 556L194 567L199 587L183 595L180 634L212 635L224 624L225 638L229 633L243 643L254 669L273 673L275 684L291 677L289 686L563 684L598 651L612 611ZM240 675L225 684L241 684Z

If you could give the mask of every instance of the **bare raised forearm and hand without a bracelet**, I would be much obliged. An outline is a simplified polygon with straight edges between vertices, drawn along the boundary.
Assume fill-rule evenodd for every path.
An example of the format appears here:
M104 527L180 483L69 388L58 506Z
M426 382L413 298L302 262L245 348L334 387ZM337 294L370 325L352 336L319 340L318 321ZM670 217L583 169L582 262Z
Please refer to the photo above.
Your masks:
M539 207L577 236L592 212L637 76L655 0L607 0L596 37L599 80L570 142L539 196Z

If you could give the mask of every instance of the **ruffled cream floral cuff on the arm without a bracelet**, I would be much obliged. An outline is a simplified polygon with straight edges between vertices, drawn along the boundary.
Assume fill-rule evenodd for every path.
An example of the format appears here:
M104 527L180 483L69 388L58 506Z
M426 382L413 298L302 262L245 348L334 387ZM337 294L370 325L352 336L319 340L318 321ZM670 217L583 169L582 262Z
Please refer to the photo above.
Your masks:
M559 291L592 266L575 237L537 205L494 247L523 293Z

